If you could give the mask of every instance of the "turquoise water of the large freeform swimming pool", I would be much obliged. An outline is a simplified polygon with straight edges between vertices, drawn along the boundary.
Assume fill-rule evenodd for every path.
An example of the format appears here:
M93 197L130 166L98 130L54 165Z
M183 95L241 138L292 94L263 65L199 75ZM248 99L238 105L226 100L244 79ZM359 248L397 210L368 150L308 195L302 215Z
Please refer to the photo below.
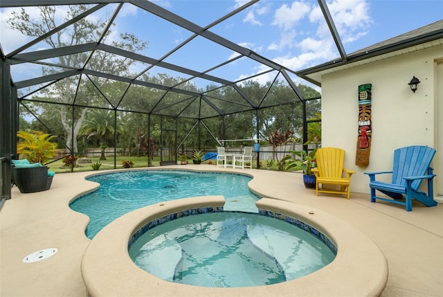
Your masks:
M260 199L248 188L251 177L239 174L145 170L101 174L88 178L100 188L70 204L89 216L86 235L93 238L102 228L132 210L161 201L186 197L223 195L225 210L257 213Z

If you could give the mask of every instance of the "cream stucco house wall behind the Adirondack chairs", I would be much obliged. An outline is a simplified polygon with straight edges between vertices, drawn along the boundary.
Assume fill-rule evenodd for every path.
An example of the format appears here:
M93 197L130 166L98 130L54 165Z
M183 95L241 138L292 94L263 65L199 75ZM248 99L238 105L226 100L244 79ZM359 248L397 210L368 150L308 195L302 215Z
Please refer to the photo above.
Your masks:
M408 145L437 147L435 60L442 57L443 46L433 46L322 75L322 146L346 151L345 168L356 171L352 192L369 193L369 177L363 172L392 170L395 149ZM408 86L413 75L420 80L415 93ZM372 144L370 163L361 167L355 165L358 87L368 83L372 84ZM384 181L390 181L390 176Z

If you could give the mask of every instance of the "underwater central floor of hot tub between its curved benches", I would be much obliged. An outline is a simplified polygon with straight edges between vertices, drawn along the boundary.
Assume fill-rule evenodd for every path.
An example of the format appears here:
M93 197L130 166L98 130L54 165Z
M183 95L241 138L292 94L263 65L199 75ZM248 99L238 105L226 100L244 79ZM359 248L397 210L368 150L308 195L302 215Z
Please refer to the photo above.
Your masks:
M211 222L204 228L197 224L199 236L181 242L183 261L174 281L202 287L251 287L279 278L284 281L278 263L247 240L246 226L239 224L242 220Z

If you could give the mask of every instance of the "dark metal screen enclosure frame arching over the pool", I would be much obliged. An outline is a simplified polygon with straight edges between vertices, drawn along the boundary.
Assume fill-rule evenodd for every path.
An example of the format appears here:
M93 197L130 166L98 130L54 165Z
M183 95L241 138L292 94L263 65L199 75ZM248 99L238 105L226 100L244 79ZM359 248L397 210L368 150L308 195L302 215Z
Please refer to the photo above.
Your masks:
M221 37L215 33L212 33L209 29L216 24L219 24L221 21L224 21L225 19L228 19L229 17L232 17L233 15L237 14L238 12L248 8L249 6L252 6L254 3L256 3L258 0L252 0L248 3L244 4L242 7L237 8L236 10L233 10L233 12L228 13L228 15L225 15L224 17L221 17L217 21L214 21L212 24L201 27L197 24L192 23L188 19L184 19L183 17L179 17L179 15L175 15L174 13L165 10L164 8L161 8L160 6L156 6L154 3L151 3L149 1L145 0L118 0L118 1L109 1L109 0L2 0L0 2L0 8L19 8L19 7L27 7L27 6L66 6L66 5L76 5L76 4L91 4L93 5L89 10L82 13L82 15L79 15L77 17L74 17L73 19L66 21L66 23L61 24L60 26L57 26L57 28L53 28L53 30L50 30L45 35L39 36L35 38L33 41L28 42L28 44L25 44L24 46L21 46L20 48L17 48L15 51L12 51L11 53L3 53L3 48L0 47L1 51L1 62L0 62L0 87L1 87L1 128L0 128L0 138L1 138L1 161L3 161L5 164L10 163L10 157L16 156L16 147L15 143L17 143L17 136L16 132L18 131L18 118L19 118L19 103L21 101L30 100L27 98L24 98L28 96L29 94L19 98L17 95L18 89L23 89L25 87L35 86L39 84L46 84L44 87L48 87L49 85L53 84L54 82L57 82L59 80L62 80L64 78L69 78L74 75L94 75L98 76L100 78L110 79L110 80L116 80L120 82L127 82L129 84L138 84L145 87L155 88L155 89L161 89L167 92L175 92L175 93L183 93L186 94L186 96L190 96L190 98L198 98L201 100L201 102L206 102L208 105L213 107L213 109L217 112L217 116L224 117L228 114L232 114L233 112L230 111L228 113L217 109L215 105L210 104L210 100L207 98L207 93L210 91L213 91L215 89L218 89L219 87L211 90L206 90L204 92L192 92L187 91L183 89L179 89L177 87L166 87L161 84L154 84L152 82L145 82L141 80L137 80L137 78L125 78L123 76L119 75L113 75L111 73L102 73L98 71L93 71L93 69L87 69L87 64L84 64L81 68L78 69L71 69L62 71L61 73L55 73L51 75L46 76L40 76L38 78L32 78L30 80L22 80L19 82L13 82L11 78L10 73L10 66L15 64L22 64L26 62L36 62L38 64L44 64L42 60L58 57L61 55L69 55L69 54L75 54L75 53L83 53L86 51L106 51L107 53L114 53L116 55L120 55L122 57L127 57L132 60L137 60L140 62L145 62L147 64L150 64L152 66L161 66L165 69L170 69L172 71L176 71L179 73L185 73L186 75L190 75L191 78L202 78L204 80L209 80L216 82L217 84L221 84L222 87L230 86L233 87L240 96L244 99L244 102L246 102L249 105L249 109L242 109L243 111L256 111L258 115L258 111L263 108L269 108L273 107L273 105L266 105L266 107L260 106L260 104L256 104L251 100L251 98L248 98L248 96L242 92L242 89L239 88L238 84L241 83L244 80L250 80L253 79L257 75L264 74L266 72L275 71L276 75L275 78L278 76L283 77L289 87L294 92L294 100L292 102L287 102L287 104L292 104L293 102L301 102L304 107L304 118L303 118L303 139L304 143L307 140L307 120L306 120L306 102L307 100L302 96L302 93L297 89L296 84L291 80L289 77L289 73L296 74L295 71L288 69L287 67L284 67L280 64L277 64L269 59L266 59L266 57L263 57L262 55L259 55L255 53L254 51L251 51L248 48L245 48L243 46L239 46L233 42L230 42L230 40L225 39L224 37ZM191 31L194 33L192 37L190 37L186 42L183 42L183 44L186 44L187 42L190 42L191 39L199 36L204 37L211 42L215 42L221 46L224 46L225 48L228 48L232 51L235 51L239 55L234 57L233 59L226 61L221 64L217 64L213 66L212 68L199 72L192 69L186 69L181 66L177 66L175 64L170 64L167 62L164 62L163 60L165 57L168 57L168 55L171 55L175 51L179 50L183 44L177 46L177 48L172 49L168 54L166 54L164 57L162 57L159 60L153 59L152 57L147 57L145 55L140 55L138 53L132 53L129 51L124 51L123 49L116 48L114 46L109 46L107 44L103 44L100 42L91 42L87 44L79 44L74 46L66 46L64 48L53 48L49 50L44 51L33 51L30 53L22 53L23 51L26 51L26 49L30 48L31 46L37 44L38 42L41 42L46 37L56 33L58 30L62 30L63 28L66 28L67 26L70 26L75 21L82 17L86 17L87 15L95 12L96 10L99 10L102 7L107 6L109 3L118 3L118 8L115 10L114 15L111 16L111 19L109 21L109 26L112 23L113 19L115 19L116 15L120 11L120 8L123 6L124 3L131 3L134 6L137 6L138 8L141 8L147 12L152 13L153 15L156 15L157 17L161 17L162 19L165 19L166 21L170 21L171 23L180 26L182 28L185 28L186 30ZM334 26L334 22L332 21L332 17L329 14L329 10L327 9L327 5L324 0L318 0L318 4L320 8L323 11L323 15L325 16L325 19L327 21L327 24L329 26L329 29L331 30L331 33L334 37L334 41L336 42L336 45L338 47L338 51L341 53L341 57L343 59L346 58L345 51L343 49L343 45L341 45L340 38L338 37L338 33L336 31L336 28ZM105 28L104 32L102 33L102 36L105 35L106 30L109 30L109 26ZM243 80L239 81L228 81L224 80L222 78L215 77L213 75L208 75L207 73L209 71L212 71L214 69L217 69L218 67L225 66L226 64L233 62L241 57L248 57L255 62L259 62L260 64L266 65L269 67L269 70L263 71L262 73L259 73L257 75L250 76L248 78L245 78ZM51 64L48 64L48 66L53 66ZM151 66L151 67L152 67ZM67 67L64 67L67 68ZM145 69L145 71L149 70ZM143 71L143 72L145 72ZM190 79L188 79L190 80ZM79 82L80 83L80 82ZM76 91L77 92L77 91ZM120 101L121 102L121 101ZM48 104L51 104L51 102L46 102ZM53 103L53 104L62 104L62 103ZM63 103L66 104L66 103ZM276 105L282 105L282 102L279 102ZM73 102L71 107L79 107L75 105L75 102ZM93 107L90 107L93 108ZM109 110L119 111L118 106L114 108L109 108ZM121 110L124 111L124 110ZM240 111L239 111L240 112ZM158 115L163 116L161 113L157 113L154 110L151 110L149 112L142 112L148 115ZM180 115L177 115L177 117L180 117ZM210 118L213 116L202 116L200 113L196 114L192 118L194 118L197 121L204 120L205 118ZM259 121L257 120L257 123ZM258 132L258 127L257 127ZM258 134L257 134L258 135ZM114 145L115 146L115 145ZM2 197L6 197L6 199L10 198L10 187L8 186L10 181L10 166L2 165Z

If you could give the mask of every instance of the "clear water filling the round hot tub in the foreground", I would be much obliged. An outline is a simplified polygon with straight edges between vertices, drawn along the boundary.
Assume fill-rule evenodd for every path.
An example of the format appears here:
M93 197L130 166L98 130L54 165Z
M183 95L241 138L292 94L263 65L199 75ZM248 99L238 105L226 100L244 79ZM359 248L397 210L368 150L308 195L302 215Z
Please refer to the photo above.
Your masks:
M273 285L306 276L335 258L302 228L237 212L166 222L138 237L129 255L154 276L201 287Z

